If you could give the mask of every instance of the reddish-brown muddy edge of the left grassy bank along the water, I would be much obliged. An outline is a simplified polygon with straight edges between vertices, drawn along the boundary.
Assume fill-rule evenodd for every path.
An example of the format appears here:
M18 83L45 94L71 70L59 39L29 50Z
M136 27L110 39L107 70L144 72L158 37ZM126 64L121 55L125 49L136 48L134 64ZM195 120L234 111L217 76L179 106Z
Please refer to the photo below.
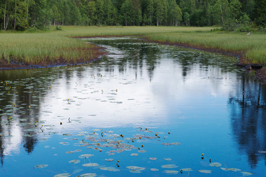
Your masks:
M80 57L78 59L66 59L63 57L52 59L47 57L46 59L42 59L41 62L37 63L35 61L21 63L19 62L22 61L21 59L12 58L12 56L10 57L11 61L7 62L7 60L2 57L0 60L0 70L48 68L89 63L98 60L100 56L107 55L107 52L102 51L103 49L103 47L92 44L89 47L67 49L78 52Z

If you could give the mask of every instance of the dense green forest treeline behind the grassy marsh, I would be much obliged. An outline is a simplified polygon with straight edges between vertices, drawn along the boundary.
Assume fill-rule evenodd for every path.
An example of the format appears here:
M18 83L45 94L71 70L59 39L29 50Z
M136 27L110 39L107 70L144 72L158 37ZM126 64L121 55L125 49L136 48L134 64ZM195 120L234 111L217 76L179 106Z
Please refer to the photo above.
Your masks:
M266 0L1 0L2 30L48 25L266 26Z

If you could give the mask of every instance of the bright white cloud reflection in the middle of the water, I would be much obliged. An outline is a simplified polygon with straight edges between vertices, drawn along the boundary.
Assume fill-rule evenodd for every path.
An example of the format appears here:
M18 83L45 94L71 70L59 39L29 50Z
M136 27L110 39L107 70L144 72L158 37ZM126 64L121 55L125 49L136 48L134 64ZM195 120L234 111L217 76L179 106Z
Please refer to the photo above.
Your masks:
M65 77L57 80L41 104L40 119L59 123L62 118L67 122L70 117L72 122L64 126L114 127L152 125L150 117L158 118L156 114L160 114L162 103L156 100L150 86L144 84L148 82L147 76L135 80L135 70L127 69L125 74L115 73L114 77L101 72L103 77L94 79L86 76L87 72L78 80L74 73L67 85Z

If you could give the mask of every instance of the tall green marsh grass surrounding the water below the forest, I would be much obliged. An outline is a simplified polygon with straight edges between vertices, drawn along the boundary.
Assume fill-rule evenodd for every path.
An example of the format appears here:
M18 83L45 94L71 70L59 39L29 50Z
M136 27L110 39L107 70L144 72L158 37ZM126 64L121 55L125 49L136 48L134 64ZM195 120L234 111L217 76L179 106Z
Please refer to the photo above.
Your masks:
M50 27L47 32L0 32L1 64L78 63L94 58L91 46L74 37L141 35L149 40L241 55L266 63L266 34L211 31L211 27Z

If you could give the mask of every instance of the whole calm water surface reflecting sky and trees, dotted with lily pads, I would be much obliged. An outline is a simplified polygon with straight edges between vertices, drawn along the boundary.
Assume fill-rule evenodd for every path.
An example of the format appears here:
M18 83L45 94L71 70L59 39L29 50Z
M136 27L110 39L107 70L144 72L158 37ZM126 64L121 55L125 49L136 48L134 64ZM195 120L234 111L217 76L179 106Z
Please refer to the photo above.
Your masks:
M236 58L129 38L90 42L110 55L0 71L1 177L265 176L266 87Z

